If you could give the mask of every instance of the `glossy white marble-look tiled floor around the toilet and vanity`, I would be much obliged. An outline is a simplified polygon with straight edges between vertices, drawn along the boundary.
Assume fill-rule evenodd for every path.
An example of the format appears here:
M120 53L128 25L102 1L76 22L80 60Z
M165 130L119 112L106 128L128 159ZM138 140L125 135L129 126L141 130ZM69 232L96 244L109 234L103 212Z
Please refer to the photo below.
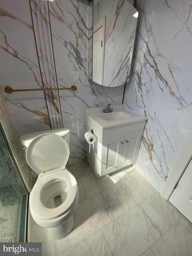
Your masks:
M113 182L105 180L106 186L91 177L86 162L69 170L82 183L86 177L89 182L92 179L92 186L98 185L99 190L83 199L90 189L80 189L82 202L74 214L75 227L64 239L53 240L46 229L32 223L32 242L42 242L43 256L190 255L191 224L137 170L124 168L110 174Z

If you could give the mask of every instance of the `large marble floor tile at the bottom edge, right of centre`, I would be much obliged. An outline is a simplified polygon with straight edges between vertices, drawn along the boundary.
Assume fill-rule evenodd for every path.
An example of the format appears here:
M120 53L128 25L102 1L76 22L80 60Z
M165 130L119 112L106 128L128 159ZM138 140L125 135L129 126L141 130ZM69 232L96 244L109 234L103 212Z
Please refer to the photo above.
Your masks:
M102 230L114 256L139 256L161 236L159 226L139 205Z

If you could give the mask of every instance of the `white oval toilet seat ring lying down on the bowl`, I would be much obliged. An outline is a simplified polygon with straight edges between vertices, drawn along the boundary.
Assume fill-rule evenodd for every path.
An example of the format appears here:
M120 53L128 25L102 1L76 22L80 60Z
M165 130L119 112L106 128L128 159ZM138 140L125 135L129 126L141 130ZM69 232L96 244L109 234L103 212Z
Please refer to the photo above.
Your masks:
M46 185L56 179L66 181L68 183L68 194L66 200L55 208L48 208L41 200L42 190ZM72 207L77 196L77 182L74 176L68 170L54 170L44 174L43 177L39 177L32 192L30 194L30 206L32 211L38 218L53 219L68 212Z

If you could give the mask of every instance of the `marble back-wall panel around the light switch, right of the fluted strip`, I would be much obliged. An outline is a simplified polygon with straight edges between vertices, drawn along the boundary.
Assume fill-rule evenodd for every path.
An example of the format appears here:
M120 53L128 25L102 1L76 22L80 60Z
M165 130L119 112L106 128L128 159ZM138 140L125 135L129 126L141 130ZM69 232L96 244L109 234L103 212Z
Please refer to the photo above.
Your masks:
M69 164L86 160L85 109L121 104L123 88L104 88L88 79L89 1L54 0L49 2L50 24L59 87L69 87L68 71L80 72L78 90L60 91L62 119L70 134ZM91 25L90 25L91 26Z

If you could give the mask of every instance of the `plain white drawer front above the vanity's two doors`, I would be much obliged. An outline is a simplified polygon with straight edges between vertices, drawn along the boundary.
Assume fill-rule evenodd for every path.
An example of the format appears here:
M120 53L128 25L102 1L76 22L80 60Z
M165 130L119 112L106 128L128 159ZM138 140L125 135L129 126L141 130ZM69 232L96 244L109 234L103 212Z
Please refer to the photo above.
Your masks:
M103 129L102 140L112 138L114 136L126 134L129 132L143 130L145 127L145 123L146 121L142 121L142 122L136 122L134 124L124 124L122 126Z

